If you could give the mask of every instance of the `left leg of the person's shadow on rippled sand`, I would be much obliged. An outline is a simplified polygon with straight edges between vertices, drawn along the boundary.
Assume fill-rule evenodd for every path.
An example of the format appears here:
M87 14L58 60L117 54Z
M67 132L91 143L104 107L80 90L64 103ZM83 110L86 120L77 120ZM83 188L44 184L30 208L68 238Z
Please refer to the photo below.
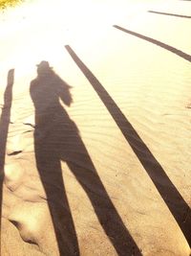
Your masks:
M37 145L36 145L37 144ZM74 221L66 195L60 159L50 145L35 144L36 166L43 184L60 255L79 255Z

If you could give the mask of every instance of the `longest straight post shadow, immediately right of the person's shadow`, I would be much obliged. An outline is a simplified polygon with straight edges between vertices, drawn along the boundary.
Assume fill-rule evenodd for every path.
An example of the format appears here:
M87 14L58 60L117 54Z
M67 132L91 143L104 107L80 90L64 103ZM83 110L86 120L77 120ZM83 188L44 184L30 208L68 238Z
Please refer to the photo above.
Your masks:
M110 112L111 116L117 124L117 127L121 130L126 141L138 156L139 162L142 164L143 168L152 179L153 183L159 191L161 198L163 198L172 215L178 222L187 242L191 244L191 211L189 206L181 197L176 186L165 174L158 160L139 137L136 129L127 120L125 115L119 109L116 102L112 99L109 93L105 90L103 85L96 79L95 75L82 62L82 60L76 56L73 49L69 45L65 47L84 76L88 79L88 81L90 81L96 90L100 100Z

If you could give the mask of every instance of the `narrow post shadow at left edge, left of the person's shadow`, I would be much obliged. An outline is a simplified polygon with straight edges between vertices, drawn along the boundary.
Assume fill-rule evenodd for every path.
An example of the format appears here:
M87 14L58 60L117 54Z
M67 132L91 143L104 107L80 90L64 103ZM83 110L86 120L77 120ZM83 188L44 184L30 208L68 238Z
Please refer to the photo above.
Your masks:
M4 93L4 105L0 118L0 230L2 218L2 193L4 180L4 166L6 157L6 144L8 139L8 131L11 120L11 102L12 102L12 85L14 81L14 69L8 72L7 87ZM1 242L1 240L0 240Z

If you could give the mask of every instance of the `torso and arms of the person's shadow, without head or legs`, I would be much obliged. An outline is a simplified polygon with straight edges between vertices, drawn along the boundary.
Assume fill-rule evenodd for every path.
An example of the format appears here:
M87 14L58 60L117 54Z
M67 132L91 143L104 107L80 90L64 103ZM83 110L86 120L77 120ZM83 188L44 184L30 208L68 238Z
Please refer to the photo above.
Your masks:
M52 70L31 83L31 97L35 107L35 153L41 158L51 156L67 160L70 149L79 139L78 129L61 104L71 105L71 86ZM43 154L43 155L42 155Z

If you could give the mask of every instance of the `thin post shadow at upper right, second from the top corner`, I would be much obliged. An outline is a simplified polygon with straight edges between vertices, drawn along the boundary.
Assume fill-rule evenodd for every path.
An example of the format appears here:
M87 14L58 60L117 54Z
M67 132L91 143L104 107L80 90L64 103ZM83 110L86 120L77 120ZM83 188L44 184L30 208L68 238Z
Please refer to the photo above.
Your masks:
M114 25L114 28L116 28L116 29L118 29L118 30L120 30L122 32L128 33L130 35L135 35L135 36L137 36L137 37L139 37L139 38L141 38L143 40L146 40L148 42L154 43L154 44L158 45L159 47L164 48L165 50L170 51L173 54L178 55L180 58L184 58L184 59L186 59L188 61L191 61L191 56L190 55L180 51L179 49L177 49L177 48L175 48L173 46L170 46L170 45L168 45L166 43L160 42L159 40L153 39L153 38L151 38L149 36L140 35L140 34L138 34L136 32L129 31L127 29L121 28L121 27L119 27L117 25Z

